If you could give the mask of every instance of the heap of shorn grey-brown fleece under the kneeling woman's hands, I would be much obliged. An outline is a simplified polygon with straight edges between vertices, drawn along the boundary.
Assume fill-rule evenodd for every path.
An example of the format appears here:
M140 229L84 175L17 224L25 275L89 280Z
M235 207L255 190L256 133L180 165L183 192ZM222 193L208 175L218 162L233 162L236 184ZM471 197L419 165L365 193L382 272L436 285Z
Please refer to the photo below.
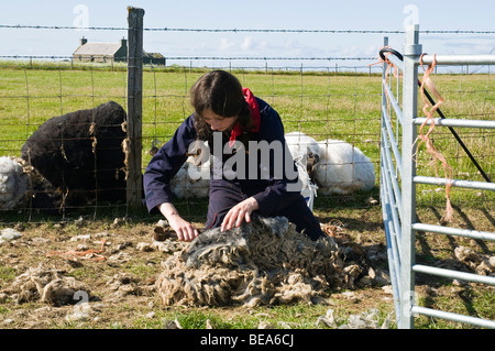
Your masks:
M156 290L165 305L319 303L330 288L352 288L362 270L344 265L332 238L311 241L284 217L256 217L202 232L164 262Z

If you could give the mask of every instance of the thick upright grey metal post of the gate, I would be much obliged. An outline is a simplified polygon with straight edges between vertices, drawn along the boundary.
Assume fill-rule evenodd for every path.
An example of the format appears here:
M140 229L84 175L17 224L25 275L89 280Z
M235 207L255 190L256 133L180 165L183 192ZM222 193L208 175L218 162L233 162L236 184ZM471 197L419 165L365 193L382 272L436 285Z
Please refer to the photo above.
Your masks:
M402 260L400 260L400 320L399 328L414 328L413 306L415 304L415 230L416 221L416 125L418 103L418 67L416 61L421 54L419 43L419 25L409 26L406 31L404 45L404 78L403 78L403 177L402 177Z

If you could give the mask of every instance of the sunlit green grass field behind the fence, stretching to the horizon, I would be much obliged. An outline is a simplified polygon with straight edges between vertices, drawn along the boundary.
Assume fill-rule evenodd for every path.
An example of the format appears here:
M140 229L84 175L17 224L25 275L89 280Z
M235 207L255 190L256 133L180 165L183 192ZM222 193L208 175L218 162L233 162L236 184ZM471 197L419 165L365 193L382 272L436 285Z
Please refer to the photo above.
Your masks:
M20 155L25 140L47 119L114 100L127 109L127 70L122 65L67 62L0 63L1 155ZM143 70L143 168L153 142L165 143L193 109L188 91L205 68L150 68ZM233 70L243 86L271 103L286 132L301 131L316 140L338 139L354 144L380 167L381 76L326 72ZM395 80L395 79L394 79ZM448 118L493 119L495 95L490 75L437 75L433 80L446 102ZM395 84L395 83L394 83ZM395 90L395 88L394 88ZM422 116L421 98L418 114ZM488 175L494 173L495 138L491 130L457 130ZM453 135L438 128L431 134L436 147L454 169L454 178L481 180L480 173ZM422 145L418 174L435 176ZM439 165L438 165L439 166ZM439 175L443 176L439 166ZM378 172L376 172L378 174ZM442 201L436 187L418 186L418 200ZM491 191L466 194L455 189L452 199L491 200ZM459 195L457 195L459 194ZM481 196L481 197L480 197Z

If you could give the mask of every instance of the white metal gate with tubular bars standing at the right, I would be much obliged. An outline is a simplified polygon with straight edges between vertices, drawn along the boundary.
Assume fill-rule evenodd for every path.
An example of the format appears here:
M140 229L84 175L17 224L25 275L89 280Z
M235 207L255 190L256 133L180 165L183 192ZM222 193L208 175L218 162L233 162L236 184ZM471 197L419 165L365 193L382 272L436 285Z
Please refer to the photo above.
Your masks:
M387 46L387 39L384 43ZM415 274L430 274L452 279L475 282L495 285L494 276L464 273L453 270L438 268L415 263L416 231L461 235L477 240L495 241L495 232L459 229L452 227L420 223L416 219L416 185L438 184L446 186L448 180L437 177L417 175L415 143L417 128L427 121L417 117L418 102L418 66L420 64L421 45L419 44L419 26L414 25L406 31L403 54L384 48L389 54L383 63L383 92L382 92L382 134L381 134L381 201L383 219L387 240L388 265L394 292L394 304L398 328L414 328L415 315L425 315L459 322L465 322L484 328L495 328L495 321L459 314L441 311L416 305ZM424 64L437 65L472 65L495 64L495 55L422 55ZM394 96L387 79L387 68L394 66L402 72L402 96L397 84ZM398 81L398 79L397 79ZM399 100L402 99L402 108ZM392 109L388 111L387 106ZM400 125L393 130L391 119ZM438 118L437 127L481 128L495 129L495 121L458 120ZM487 180L470 182L452 179L450 186L471 189L495 190L495 184Z

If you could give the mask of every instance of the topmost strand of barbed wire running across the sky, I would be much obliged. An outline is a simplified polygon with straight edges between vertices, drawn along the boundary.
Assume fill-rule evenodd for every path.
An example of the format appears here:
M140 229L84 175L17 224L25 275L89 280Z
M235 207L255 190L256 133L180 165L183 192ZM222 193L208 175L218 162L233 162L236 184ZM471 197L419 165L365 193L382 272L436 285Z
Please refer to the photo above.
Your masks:
M25 25L0 24L0 29L34 29L34 30L79 30L79 31L128 31L127 26L74 26L74 25ZM404 34L404 30L305 30L305 29L190 29L190 28L143 28L150 32L232 32L232 33L331 33L331 34ZM420 30L422 34L495 34L493 31L473 30Z

